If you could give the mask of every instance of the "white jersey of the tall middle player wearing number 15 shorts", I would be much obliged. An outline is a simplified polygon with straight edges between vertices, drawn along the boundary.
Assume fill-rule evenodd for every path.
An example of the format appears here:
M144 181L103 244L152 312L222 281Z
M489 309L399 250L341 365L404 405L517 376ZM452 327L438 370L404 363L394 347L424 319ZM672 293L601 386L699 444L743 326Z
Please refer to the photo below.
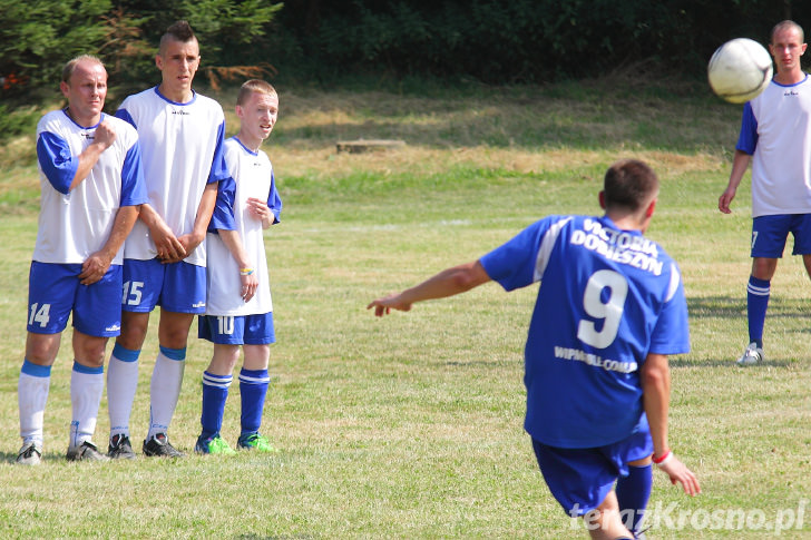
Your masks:
M187 104L176 104L154 87L125 99L116 116L138 130L149 205L175 236L192 233L206 184L227 176L222 163L222 107L199 94ZM124 249L126 258L157 256L143 220L136 222ZM205 266L205 242L185 261Z

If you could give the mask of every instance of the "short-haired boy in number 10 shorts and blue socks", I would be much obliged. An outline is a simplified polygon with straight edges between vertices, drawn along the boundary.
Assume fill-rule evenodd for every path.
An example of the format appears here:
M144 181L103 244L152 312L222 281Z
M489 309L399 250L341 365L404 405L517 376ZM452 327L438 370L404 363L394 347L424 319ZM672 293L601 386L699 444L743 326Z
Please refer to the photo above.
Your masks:
M240 360L242 401L237 448L273 452L260 433L271 381L267 364L275 342L273 303L267 275L263 230L279 223L282 199L273 166L261 150L279 117L279 95L268 82L250 80L236 99L240 132L225 141L231 178L219 184L217 205L208 226L208 301L198 318L198 336L214 343L214 354L203 373L202 432L195 451L233 454L221 436L225 401Z

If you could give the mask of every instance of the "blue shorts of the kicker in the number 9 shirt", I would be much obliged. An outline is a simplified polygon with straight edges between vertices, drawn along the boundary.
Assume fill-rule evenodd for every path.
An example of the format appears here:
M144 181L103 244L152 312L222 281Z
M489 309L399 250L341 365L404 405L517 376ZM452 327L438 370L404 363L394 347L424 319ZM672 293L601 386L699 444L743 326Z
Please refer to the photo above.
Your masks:
M555 448L532 439L535 456L553 497L571 517L599 507L619 477L628 475L628 462L653 453L645 428L627 439L599 448Z

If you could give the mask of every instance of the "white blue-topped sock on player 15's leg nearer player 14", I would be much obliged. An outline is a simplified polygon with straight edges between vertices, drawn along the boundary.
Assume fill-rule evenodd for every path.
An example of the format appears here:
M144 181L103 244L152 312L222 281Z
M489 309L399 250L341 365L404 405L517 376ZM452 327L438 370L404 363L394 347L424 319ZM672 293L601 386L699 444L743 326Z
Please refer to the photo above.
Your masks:
M110 439L129 436L129 416L133 414L135 392L138 390L138 355L119 344L113 347L107 367L107 412L110 418Z

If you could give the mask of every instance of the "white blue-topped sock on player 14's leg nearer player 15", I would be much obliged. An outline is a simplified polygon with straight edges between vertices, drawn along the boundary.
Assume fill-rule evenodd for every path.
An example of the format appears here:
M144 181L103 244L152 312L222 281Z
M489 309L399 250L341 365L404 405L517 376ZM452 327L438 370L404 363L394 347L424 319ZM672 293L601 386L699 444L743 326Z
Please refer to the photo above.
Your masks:
M87 367L74 361L74 370L70 372L74 418L70 421L69 448L80 446L85 441L92 440L104 390L104 366Z

